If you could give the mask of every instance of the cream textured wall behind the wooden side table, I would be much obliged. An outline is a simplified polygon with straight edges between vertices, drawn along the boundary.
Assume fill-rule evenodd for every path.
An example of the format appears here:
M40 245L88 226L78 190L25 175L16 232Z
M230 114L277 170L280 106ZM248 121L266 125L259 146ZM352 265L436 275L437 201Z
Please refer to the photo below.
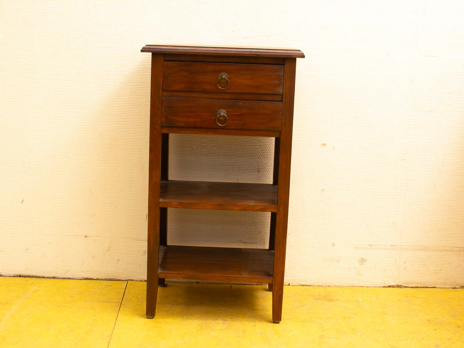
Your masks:
M144 279L145 44L295 47L286 282L464 285L464 3L0 1L0 274ZM252 150L251 150L251 149ZM270 139L173 135L171 178L271 180ZM265 246L267 213L169 211Z

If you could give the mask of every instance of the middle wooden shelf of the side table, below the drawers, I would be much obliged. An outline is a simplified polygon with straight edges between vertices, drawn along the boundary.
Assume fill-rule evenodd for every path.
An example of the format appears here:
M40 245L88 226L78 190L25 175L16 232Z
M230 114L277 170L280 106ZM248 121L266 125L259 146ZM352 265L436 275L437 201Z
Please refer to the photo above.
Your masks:
M160 207L277 212L277 185L161 181Z

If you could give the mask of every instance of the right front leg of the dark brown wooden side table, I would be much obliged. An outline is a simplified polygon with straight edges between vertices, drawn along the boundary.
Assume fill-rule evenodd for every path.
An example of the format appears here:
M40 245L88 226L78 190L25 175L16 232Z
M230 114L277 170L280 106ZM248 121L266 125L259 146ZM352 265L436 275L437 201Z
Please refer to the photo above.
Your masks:
M279 146L278 207L276 217L276 237L274 244L274 271L272 278L272 321L282 319L282 299L284 296L285 249L287 245L287 222L290 194L290 162L293 129L293 104L295 98L296 59L285 59L284 108Z

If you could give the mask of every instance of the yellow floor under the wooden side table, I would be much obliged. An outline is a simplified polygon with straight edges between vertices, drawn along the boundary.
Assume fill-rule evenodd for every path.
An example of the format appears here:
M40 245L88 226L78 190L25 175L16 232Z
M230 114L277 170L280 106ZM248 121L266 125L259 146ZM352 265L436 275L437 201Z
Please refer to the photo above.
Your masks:
M169 283L146 319L145 283L0 277L0 347L459 347L464 289Z

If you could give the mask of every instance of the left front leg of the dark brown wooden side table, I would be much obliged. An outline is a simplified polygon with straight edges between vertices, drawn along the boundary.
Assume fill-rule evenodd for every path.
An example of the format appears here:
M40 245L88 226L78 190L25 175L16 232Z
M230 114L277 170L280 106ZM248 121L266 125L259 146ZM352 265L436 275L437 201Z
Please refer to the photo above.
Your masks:
M152 53L148 155L147 317L156 312L160 245L161 86L163 55Z

